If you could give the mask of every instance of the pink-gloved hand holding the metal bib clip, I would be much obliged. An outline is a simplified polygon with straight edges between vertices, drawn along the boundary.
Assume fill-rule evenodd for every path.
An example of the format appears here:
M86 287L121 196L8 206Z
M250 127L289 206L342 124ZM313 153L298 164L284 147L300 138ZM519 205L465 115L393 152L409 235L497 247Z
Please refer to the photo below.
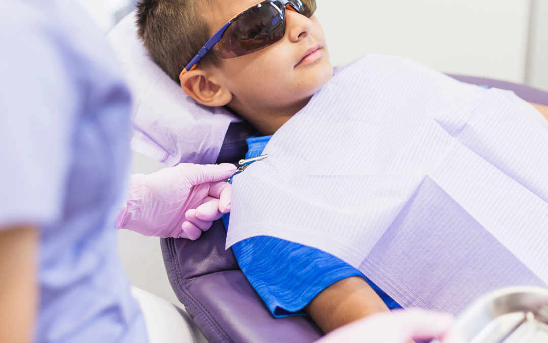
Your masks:
M198 239L214 220L230 212L231 164L179 164L150 175L130 176L118 229L145 236Z

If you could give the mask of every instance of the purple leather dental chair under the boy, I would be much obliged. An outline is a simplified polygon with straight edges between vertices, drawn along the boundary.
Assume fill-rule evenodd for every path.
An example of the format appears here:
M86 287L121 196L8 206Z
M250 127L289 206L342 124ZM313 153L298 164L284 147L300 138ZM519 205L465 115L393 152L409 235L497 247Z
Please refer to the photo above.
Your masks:
M548 106L548 92L511 82L450 75L456 80L507 89L532 103ZM254 134L245 122L232 123L218 162L234 162L247 152ZM196 241L162 239L165 269L175 294L210 343L310 343L322 331L309 317L274 318L225 250L226 233L220 220Z

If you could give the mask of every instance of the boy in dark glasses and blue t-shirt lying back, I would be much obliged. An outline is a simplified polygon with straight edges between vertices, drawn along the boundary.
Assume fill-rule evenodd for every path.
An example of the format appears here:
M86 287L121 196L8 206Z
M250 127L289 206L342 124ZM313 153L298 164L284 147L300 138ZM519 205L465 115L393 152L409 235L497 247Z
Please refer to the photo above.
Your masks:
M139 36L197 103L227 106L260 132L248 140L252 158L333 76L315 9L315 0L141 0ZM534 106L548 118L546 106ZM367 275L321 250L254 237L233 251L274 316L308 313L328 332L400 307Z

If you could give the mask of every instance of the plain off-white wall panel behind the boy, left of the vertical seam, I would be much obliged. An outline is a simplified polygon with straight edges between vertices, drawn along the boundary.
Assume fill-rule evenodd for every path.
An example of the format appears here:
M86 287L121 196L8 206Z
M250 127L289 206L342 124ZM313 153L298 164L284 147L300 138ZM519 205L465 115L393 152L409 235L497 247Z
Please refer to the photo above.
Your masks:
M399 55L443 72L523 82L529 0L317 0L334 65Z

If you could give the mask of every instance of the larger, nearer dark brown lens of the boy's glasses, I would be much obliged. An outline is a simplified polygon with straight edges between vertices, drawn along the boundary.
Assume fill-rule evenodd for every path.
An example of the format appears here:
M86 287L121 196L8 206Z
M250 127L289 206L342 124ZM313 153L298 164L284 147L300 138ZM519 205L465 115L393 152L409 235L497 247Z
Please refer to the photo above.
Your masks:
M285 33L283 10L262 2L239 15L213 49L224 59L239 57L280 41Z

